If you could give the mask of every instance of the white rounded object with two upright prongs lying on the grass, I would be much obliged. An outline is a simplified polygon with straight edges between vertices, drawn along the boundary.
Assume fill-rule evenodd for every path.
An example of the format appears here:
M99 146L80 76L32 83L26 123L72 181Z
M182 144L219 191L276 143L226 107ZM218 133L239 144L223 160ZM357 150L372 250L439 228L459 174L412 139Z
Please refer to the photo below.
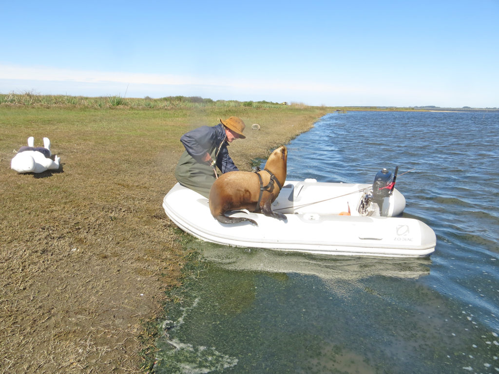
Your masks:
M28 138L28 146L22 146L10 162L10 169L17 173L42 173L46 170L57 170L60 165L60 157L54 160L50 152L50 140L43 138L43 147L34 147L34 138Z

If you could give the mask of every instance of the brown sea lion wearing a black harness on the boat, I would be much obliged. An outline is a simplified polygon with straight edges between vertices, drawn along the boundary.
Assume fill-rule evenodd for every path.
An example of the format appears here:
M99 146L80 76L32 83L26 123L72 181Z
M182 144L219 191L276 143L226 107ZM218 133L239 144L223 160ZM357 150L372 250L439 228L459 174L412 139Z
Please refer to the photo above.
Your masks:
M244 217L228 217L225 212L247 209L260 211L274 218L286 221L282 213L272 211L272 202L286 180L287 149L280 146L274 150L265 163L265 168L258 173L230 172L222 174L210 189L210 211L221 223L249 221L258 225L253 219Z

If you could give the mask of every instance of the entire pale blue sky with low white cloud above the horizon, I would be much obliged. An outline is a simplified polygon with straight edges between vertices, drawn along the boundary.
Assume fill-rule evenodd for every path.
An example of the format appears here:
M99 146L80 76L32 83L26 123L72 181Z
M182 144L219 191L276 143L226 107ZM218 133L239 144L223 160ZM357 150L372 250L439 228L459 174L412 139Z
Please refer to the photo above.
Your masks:
M499 107L499 0L6 1L0 93Z

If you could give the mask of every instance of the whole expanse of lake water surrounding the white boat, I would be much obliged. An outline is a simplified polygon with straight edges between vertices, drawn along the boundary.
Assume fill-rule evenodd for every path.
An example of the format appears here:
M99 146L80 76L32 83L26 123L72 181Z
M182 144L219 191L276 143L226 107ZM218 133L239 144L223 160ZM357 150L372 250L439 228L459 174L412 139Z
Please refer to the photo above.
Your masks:
M288 145L288 179L399 175L416 260L320 257L191 240L199 268L166 308L157 373L499 373L499 113L349 112Z

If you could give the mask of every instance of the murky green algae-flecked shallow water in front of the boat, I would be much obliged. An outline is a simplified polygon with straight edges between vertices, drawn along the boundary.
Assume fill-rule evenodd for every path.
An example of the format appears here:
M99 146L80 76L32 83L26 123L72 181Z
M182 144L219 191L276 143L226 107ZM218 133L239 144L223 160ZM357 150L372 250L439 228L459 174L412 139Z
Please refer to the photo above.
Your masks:
M428 260L324 259L202 244L196 277L175 290L177 302L165 310L156 373L499 367L495 332L419 281Z

